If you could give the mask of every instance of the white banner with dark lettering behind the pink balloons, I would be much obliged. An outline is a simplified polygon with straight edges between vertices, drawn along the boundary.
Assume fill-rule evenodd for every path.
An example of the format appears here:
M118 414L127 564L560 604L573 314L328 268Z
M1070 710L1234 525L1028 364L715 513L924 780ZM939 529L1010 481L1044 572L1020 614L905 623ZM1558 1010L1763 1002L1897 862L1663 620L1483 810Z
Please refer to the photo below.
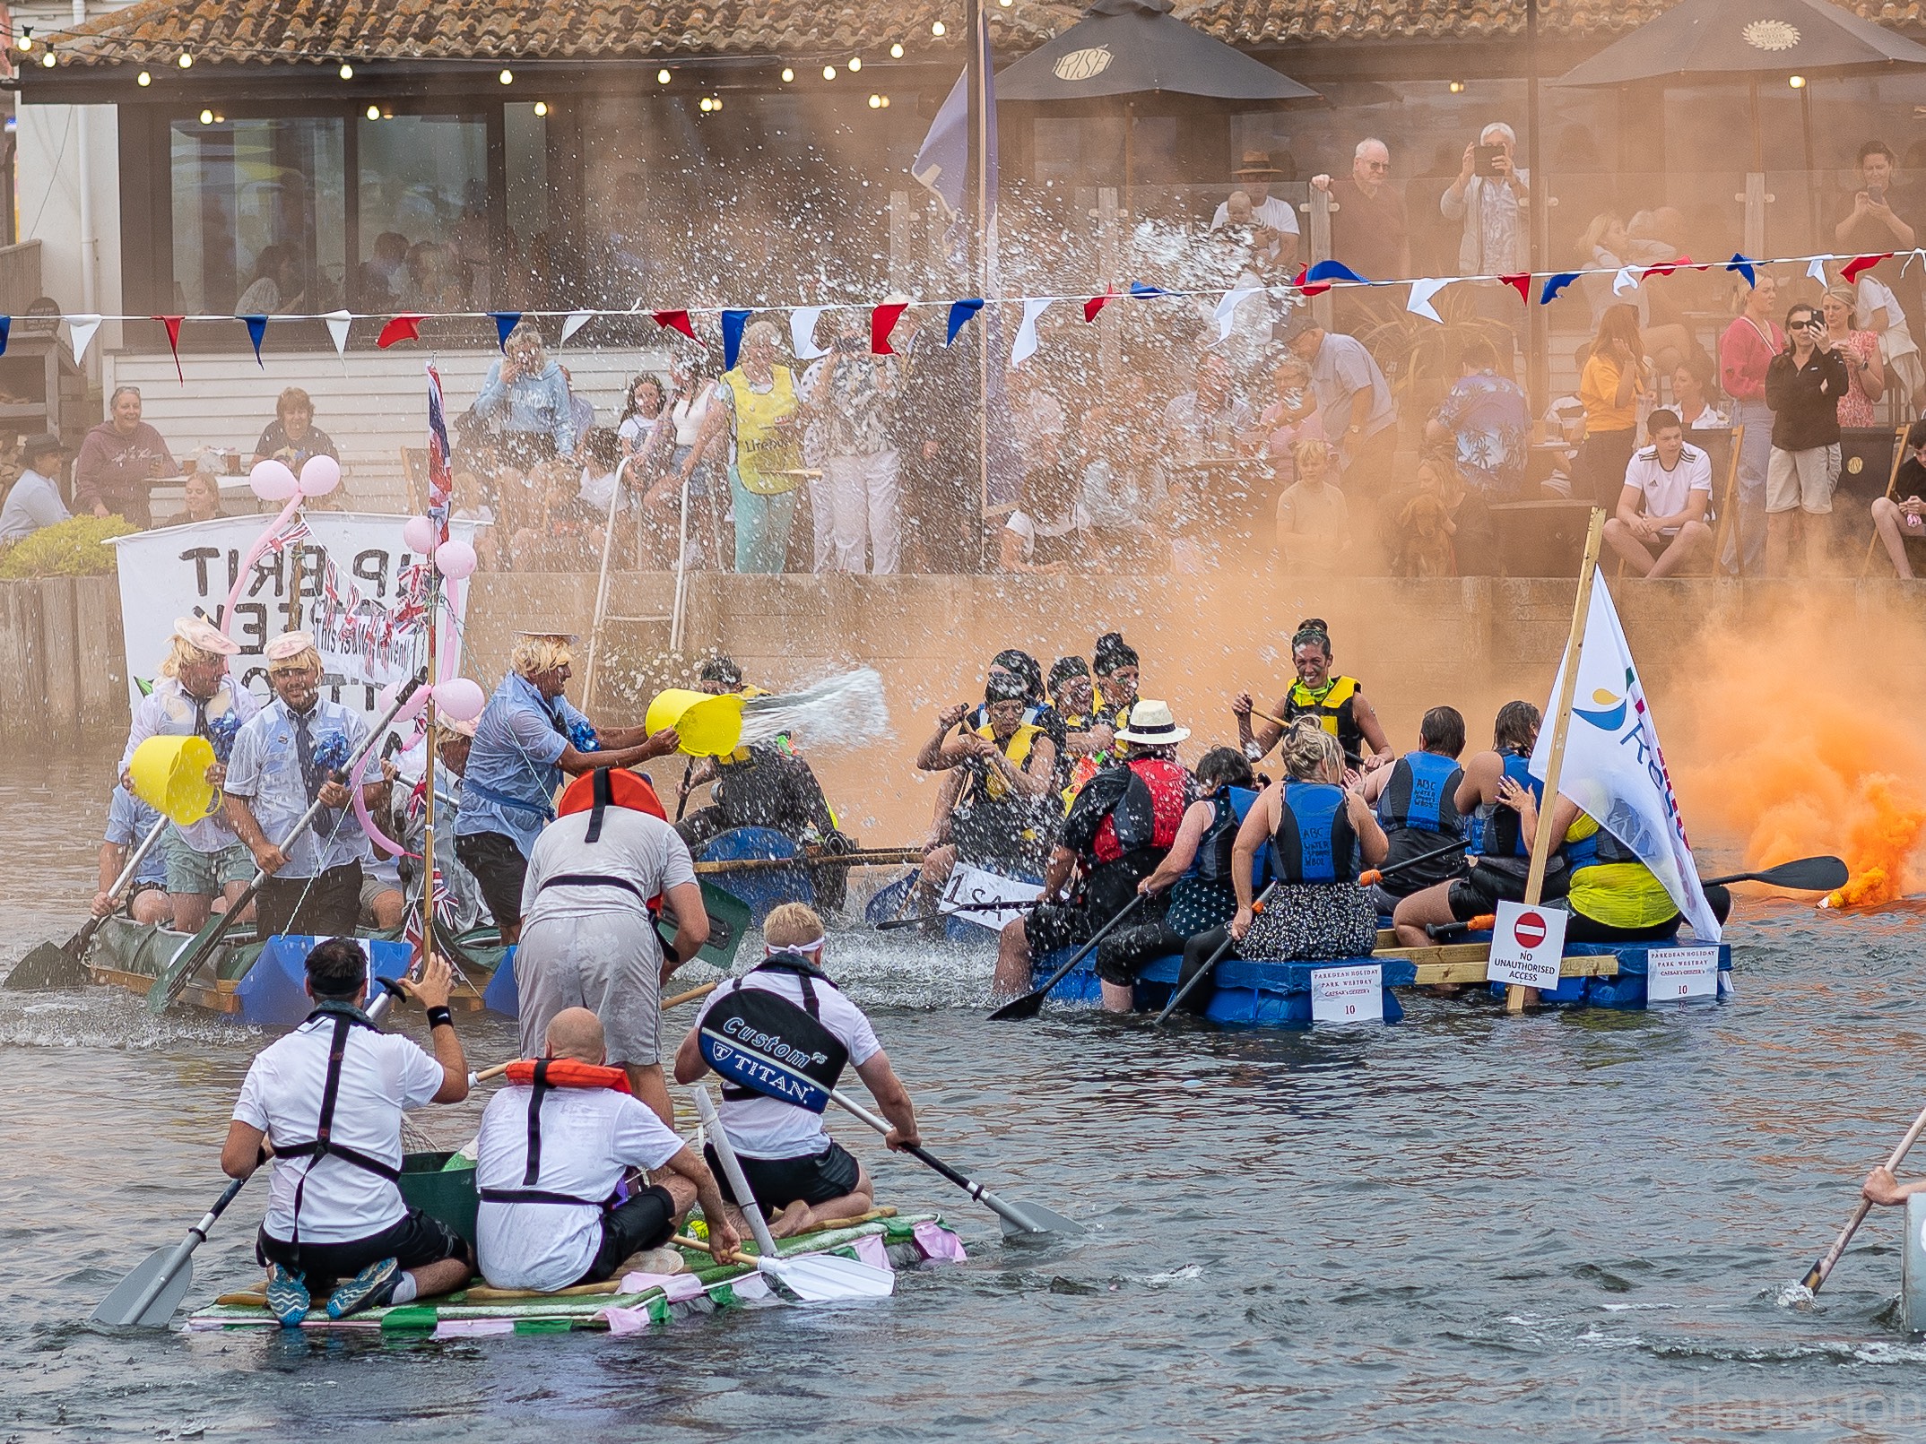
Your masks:
M121 593L121 633L127 639L129 707L141 685L152 683L168 657L173 618L210 616L227 601L241 558L260 537L272 516L221 516L158 531L116 537ZM401 516L364 512L304 512L295 529L304 529L299 545L262 553L252 578L235 603L233 624L223 628L241 643L233 658L239 676L256 697L268 697L268 664L262 649L283 632L314 632L322 653L324 689L343 707L379 716L376 693L397 678L406 678L428 660L428 628L418 606L424 558L401 539ZM300 526L304 524L304 528ZM451 535L474 541L474 522L453 522ZM297 599L295 558L300 585ZM456 616L443 612L441 680L460 676L460 608L468 583L449 587L458 593ZM487 691L487 687L483 687Z

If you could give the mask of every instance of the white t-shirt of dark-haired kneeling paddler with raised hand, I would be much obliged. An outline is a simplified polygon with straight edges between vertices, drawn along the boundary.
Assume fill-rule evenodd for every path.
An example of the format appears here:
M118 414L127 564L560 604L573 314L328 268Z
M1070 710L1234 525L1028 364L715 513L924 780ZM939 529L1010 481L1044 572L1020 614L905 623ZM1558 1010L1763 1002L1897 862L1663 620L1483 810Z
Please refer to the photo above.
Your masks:
M306 1144L322 1126L327 1049L335 1020L304 1022L268 1044L248 1065L233 1117L260 1128L273 1144ZM431 1103L443 1070L399 1034L351 1026L341 1053L341 1092L335 1096L333 1142L401 1167L401 1115ZM310 1244L351 1244L401 1223L408 1209L387 1178L337 1157L275 1159L268 1186L266 1228L295 1236L295 1186L300 1194L300 1238Z

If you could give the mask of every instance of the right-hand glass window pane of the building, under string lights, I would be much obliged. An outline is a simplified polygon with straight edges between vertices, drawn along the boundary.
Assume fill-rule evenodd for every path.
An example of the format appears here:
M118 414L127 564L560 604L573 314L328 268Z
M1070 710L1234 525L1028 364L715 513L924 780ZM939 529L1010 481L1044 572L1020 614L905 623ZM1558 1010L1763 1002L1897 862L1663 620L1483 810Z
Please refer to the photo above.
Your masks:
M487 310L487 123L356 119L360 310Z

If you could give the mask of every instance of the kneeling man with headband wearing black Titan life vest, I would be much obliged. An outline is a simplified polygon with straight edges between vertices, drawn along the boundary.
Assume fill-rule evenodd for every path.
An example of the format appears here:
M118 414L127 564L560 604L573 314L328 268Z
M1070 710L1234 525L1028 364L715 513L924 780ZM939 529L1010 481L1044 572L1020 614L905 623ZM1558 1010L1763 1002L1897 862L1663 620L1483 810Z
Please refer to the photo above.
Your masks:
M874 1207L869 1169L822 1130L820 1113L846 1063L855 1065L890 1121L884 1142L923 1142L909 1090L876 1030L822 970L822 943L815 909L776 907L763 924L763 961L711 995L676 1049L678 1084L711 1069L720 1074L722 1128L776 1238L859 1219ZM807 1061L797 1063L797 1055ZM720 1171L713 1146L707 1157ZM730 1203L742 1203L726 1176L720 1186Z

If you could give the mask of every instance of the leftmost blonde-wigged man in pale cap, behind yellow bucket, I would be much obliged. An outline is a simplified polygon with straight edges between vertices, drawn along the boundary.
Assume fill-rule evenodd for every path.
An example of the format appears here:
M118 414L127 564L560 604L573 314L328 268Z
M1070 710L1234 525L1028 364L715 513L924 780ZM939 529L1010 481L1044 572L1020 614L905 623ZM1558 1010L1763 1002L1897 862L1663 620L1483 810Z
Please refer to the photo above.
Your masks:
M254 697L229 672L229 658L239 651L241 643L221 635L204 616L175 618L160 678L133 709L119 762L127 791L133 791L133 753L148 737L206 737L216 759L208 768L208 782L225 786L235 730L258 710ZM173 926L181 932L198 932L214 897L221 895L221 907L229 907L254 876L247 847L220 811L187 826L173 824L164 847L168 905Z

